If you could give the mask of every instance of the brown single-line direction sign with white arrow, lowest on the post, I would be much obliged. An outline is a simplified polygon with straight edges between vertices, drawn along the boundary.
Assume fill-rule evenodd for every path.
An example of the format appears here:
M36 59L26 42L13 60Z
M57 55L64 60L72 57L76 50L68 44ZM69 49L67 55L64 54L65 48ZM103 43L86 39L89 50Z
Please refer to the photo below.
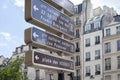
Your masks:
M62 71L74 71L72 60L64 59L40 51L28 51L25 54L25 64L43 69L53 69Z

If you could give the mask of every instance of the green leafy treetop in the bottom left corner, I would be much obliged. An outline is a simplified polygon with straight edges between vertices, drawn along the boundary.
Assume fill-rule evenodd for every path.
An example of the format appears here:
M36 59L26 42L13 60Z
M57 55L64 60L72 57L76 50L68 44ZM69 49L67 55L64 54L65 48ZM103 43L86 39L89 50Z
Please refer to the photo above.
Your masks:
M24 58L17 58L0 71L0 80L23 80L21 65Z

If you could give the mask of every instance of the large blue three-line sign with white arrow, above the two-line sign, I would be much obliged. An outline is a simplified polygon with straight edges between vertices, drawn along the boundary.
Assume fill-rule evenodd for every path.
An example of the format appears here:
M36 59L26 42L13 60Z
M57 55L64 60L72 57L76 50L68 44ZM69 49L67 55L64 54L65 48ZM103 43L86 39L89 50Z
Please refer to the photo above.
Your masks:
M25 19L52 33L74 38L73 20L43 0L25 0Z

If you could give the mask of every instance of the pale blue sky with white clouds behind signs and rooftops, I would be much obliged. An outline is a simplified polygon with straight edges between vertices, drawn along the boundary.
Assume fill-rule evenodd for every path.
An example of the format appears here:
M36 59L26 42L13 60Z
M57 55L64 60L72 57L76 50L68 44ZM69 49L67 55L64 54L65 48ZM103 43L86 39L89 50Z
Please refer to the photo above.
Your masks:
M70 0L75 5L83 0ZM93 8L107 5L120 13L119 0L91 0ZM34 25L24 19L24 0L0 2L0 55L10 58L16 47L24 45L24 30Z

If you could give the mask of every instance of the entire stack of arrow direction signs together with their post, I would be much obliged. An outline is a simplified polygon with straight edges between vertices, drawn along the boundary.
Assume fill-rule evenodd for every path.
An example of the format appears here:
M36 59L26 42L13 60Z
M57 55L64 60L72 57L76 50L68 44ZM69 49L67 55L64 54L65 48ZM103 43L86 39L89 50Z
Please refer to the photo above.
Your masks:
M25 53L25 65L58 72L74 72L74 62L62 57L63 55L66 58L73 56L75 50L74 44L70 42L74 38L74 21L69 17L74 10L72 10L73 5L69 3L69 0L52 0L59 7L63 7L60 11L45 1L25 0L25 20L45 30L42 31L35 27L25 30L25 43L40 48L39 51L33 50ZM61 1L65 5L58 3ZM45 53L46 51L42 52L41 48L56 52L58 56ZM58 80L61 79L64 80L64 73L62 77L61 74L58 75Z

